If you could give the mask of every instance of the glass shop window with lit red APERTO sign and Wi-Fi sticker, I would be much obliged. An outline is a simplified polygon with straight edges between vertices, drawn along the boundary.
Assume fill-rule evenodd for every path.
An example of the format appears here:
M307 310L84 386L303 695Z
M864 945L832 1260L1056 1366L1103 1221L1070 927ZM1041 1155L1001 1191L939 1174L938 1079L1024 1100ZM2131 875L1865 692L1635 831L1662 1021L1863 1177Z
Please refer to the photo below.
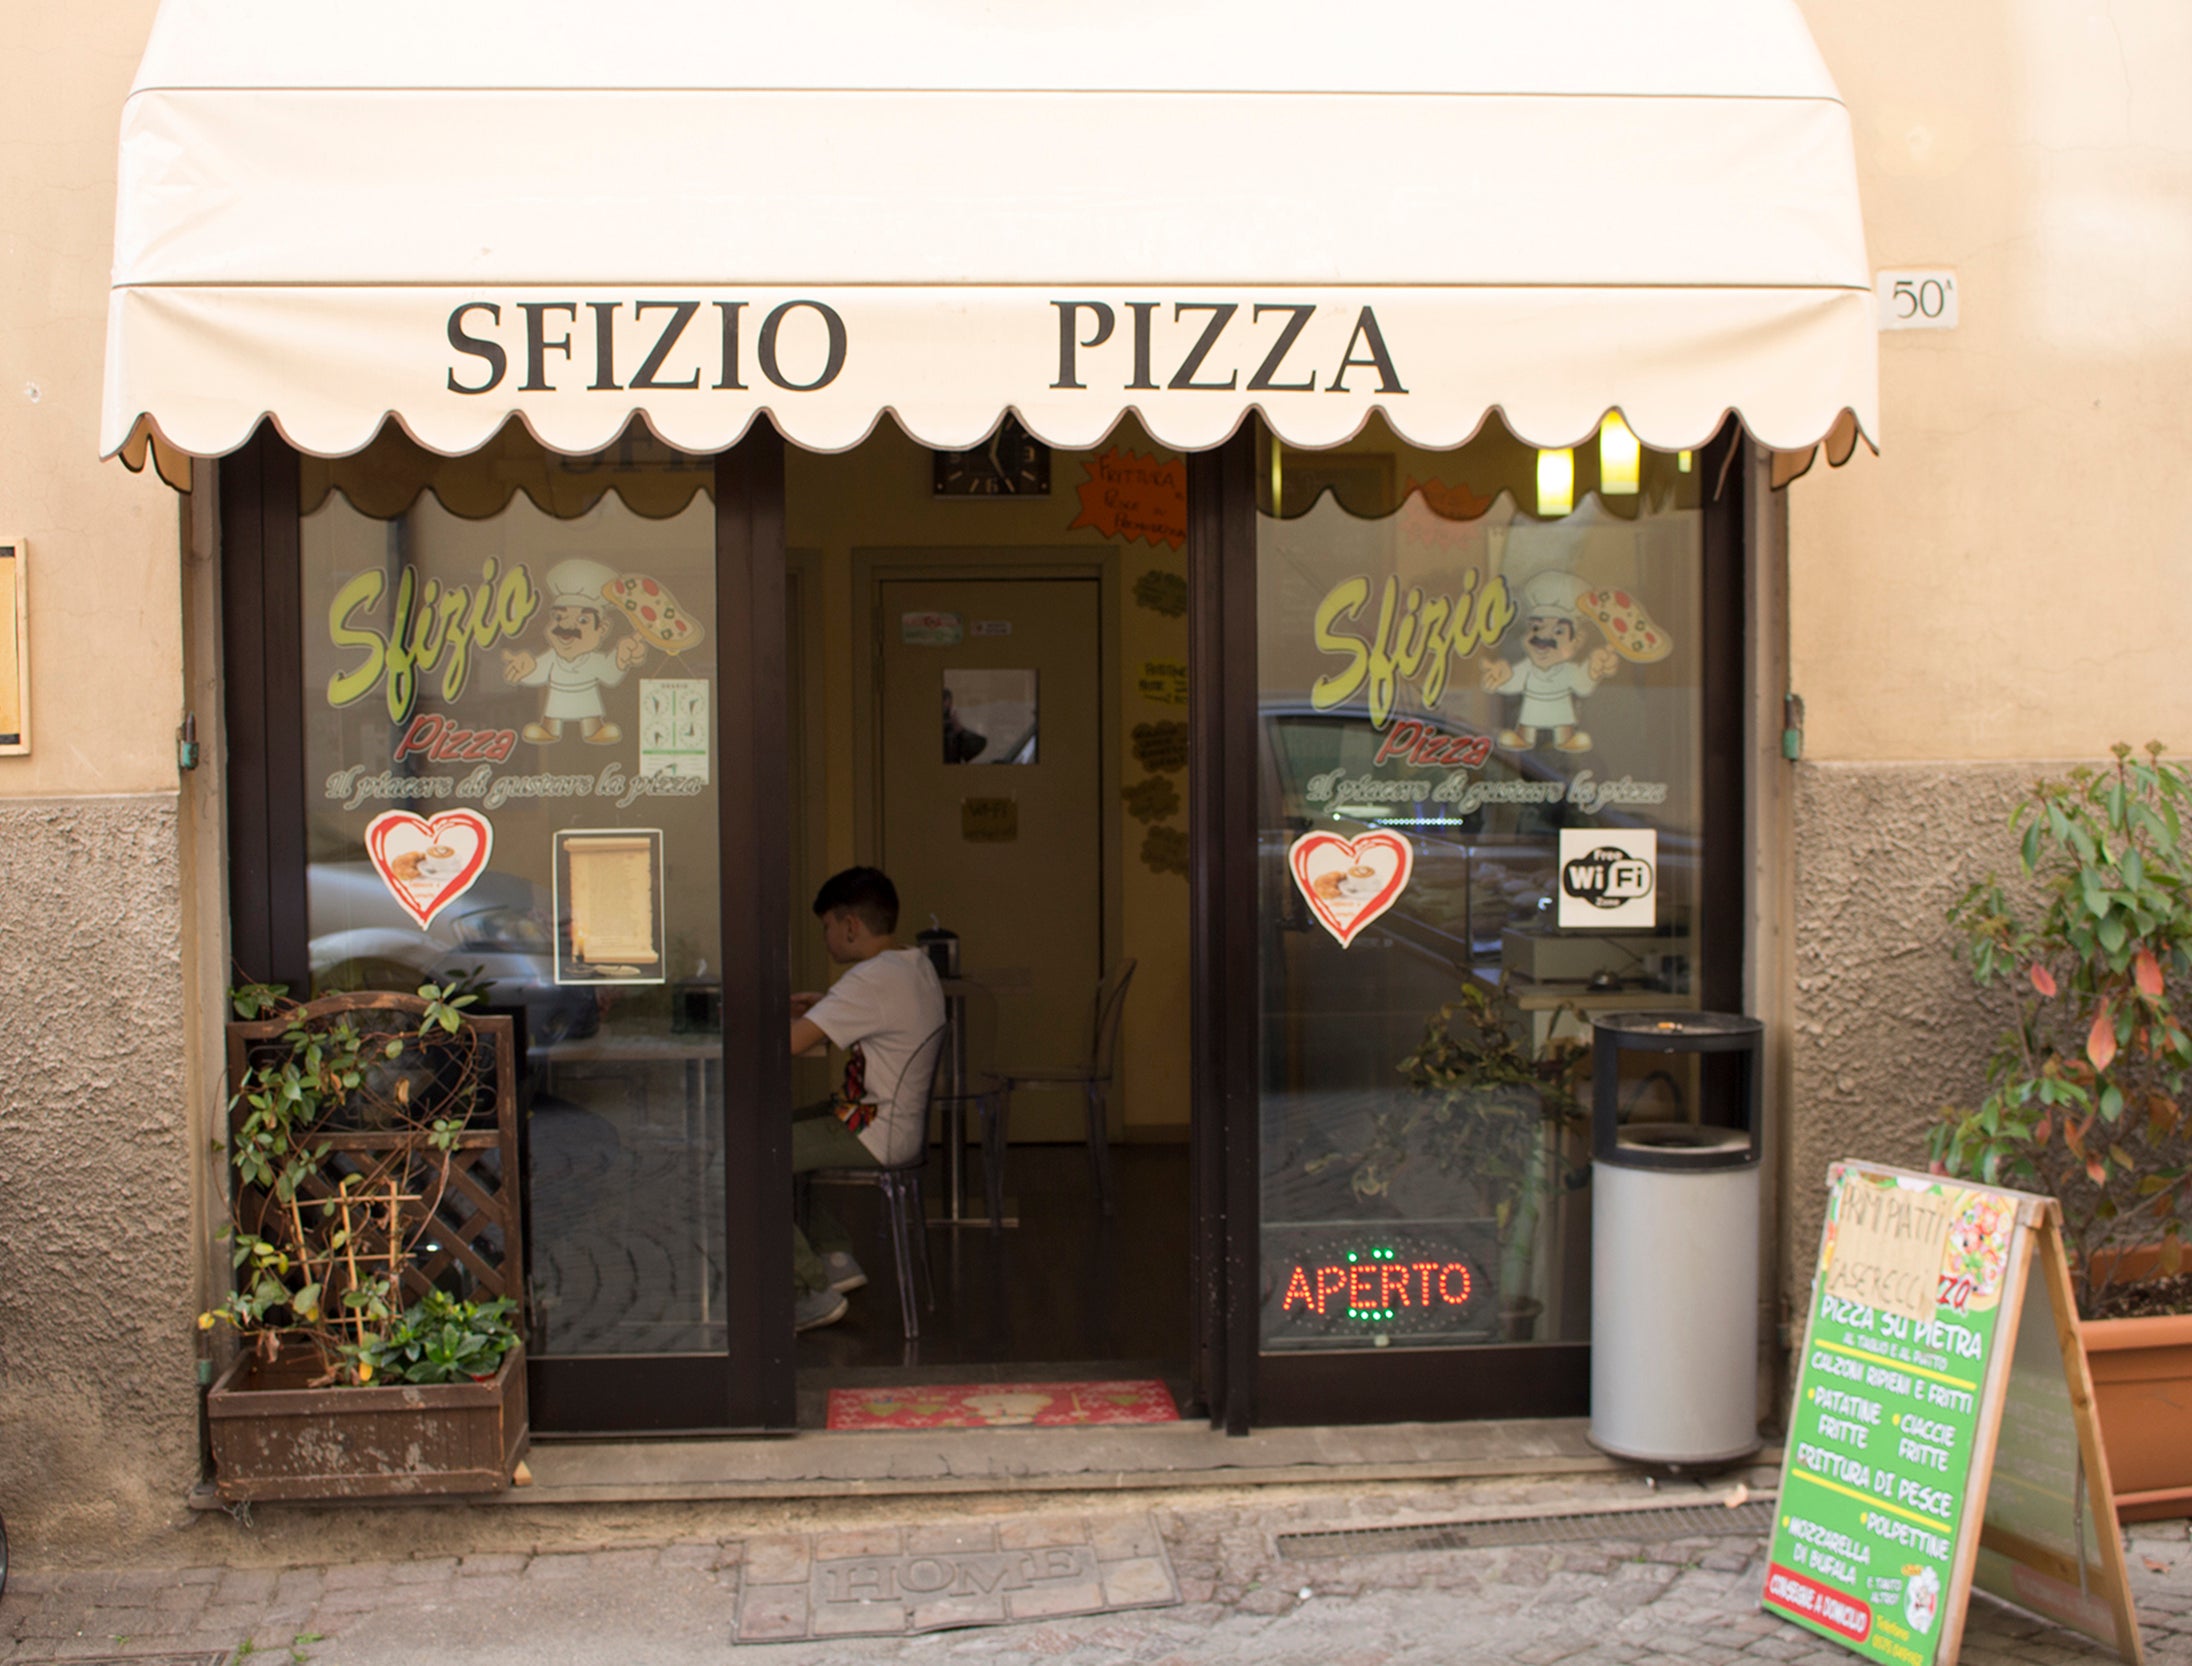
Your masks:
M1587 1015L1697 1004L1699 473L1372 425L1258 491L1263 1346L1587 1339Z

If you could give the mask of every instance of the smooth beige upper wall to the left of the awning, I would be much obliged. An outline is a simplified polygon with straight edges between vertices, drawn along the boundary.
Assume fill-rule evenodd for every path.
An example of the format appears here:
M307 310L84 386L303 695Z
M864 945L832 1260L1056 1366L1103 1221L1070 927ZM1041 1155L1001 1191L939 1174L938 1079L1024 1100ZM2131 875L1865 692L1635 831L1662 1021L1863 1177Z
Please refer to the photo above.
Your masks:
M31 548L31 754L0 796L175 789L175 493L99 460L114 142L153 0L0 4L0 537Z

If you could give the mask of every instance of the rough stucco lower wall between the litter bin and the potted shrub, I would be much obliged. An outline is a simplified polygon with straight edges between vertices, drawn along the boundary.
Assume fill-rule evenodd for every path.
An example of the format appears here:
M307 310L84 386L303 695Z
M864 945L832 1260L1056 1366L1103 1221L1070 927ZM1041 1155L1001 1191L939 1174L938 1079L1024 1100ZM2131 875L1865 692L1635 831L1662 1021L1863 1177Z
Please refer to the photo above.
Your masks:
M2060 763L1806 763L1795 772L1795 1114L1782 1162L1784 1313L1802 1313L1826 1166L1925 1168L1942 1105L1973 1105L2001 1008L1955 956L1949 905L2010 879L2017 798Z

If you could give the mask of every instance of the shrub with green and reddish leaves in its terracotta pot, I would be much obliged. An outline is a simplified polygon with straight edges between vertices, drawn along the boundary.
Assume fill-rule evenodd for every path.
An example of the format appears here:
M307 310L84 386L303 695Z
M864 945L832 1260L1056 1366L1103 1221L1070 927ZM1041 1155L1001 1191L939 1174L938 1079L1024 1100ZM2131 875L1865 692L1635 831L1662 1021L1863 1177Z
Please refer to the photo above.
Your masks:
M1973 886L1949 921L2008 1026L1975 1109L1942 1111L1933 1166L2050 1193L2078 1293L2122 1517L2192 1506L2185 1263L2192 1035L2192 772L2148 743L2019 802L2023 881Z

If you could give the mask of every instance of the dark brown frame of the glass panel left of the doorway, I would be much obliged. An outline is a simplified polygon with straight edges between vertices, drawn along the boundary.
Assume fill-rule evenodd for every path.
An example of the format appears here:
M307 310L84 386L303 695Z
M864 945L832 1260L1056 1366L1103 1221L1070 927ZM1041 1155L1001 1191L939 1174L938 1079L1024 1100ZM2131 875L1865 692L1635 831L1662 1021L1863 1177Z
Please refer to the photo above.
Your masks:
M723 1355L528 1359L541 1431L791 1429L785 443L765 421L715 460L723 943ZM228 908L237 978L311 984L298 454L259 432L219 465ZM741 1162L730 1162L739 1153ZM783 1173L780 1184L765 1175ZM526 1234L533 1243L533 1234ZM644 1374L644 1381L640 1381Z

